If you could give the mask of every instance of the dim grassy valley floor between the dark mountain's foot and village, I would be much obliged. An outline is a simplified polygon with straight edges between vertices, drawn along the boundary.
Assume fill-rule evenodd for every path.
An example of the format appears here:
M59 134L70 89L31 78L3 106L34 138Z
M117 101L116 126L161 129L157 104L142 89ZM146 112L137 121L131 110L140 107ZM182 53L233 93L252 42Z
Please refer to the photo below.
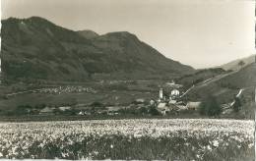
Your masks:
M70 93L37 93L27 92L17 94L8 98L0 97L0 111L8 111L17 108L19 105L56 105L63 104L91 104L93 102L101 102L103 104L130 104L138 98L152 99L158 97L158 83L160 81L104 81L104 82L88 82L82 84L69 84L69 85L83 85L96 89L96 93L90 92L70 92ZM25 86L16 85L19 87L0 86L0 96L2 94L26 91L29 89L43 88L45 86ZM50 86L50 85L48 85ZM59 85L52 85L59 86ZM66 86L66 85L64 85ZM19 88L19 90L14 90Z

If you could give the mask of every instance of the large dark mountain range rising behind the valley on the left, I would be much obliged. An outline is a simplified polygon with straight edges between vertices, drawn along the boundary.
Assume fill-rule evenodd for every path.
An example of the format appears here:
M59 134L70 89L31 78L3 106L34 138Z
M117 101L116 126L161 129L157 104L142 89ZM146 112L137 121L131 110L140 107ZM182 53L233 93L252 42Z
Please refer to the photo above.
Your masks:
M97 35L38 17L2 21L8 80L161 79L194 72L127 31Z

